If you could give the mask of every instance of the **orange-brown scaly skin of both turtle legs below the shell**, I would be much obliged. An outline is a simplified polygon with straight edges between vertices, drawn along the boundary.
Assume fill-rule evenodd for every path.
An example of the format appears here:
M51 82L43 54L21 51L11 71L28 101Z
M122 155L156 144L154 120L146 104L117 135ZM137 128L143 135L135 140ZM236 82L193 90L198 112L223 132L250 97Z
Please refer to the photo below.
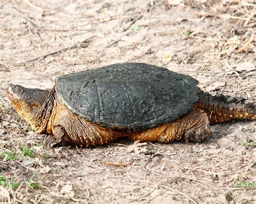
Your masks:
M202 137L211 133L207 115L201 110L191 110L175 121L165 123L157 128L127 134L126 132L115 132L90 123L72 114L68 108L58 101L53 108L53 114L47 127L49 135L54 135L58 142L64 139L68 143L79 146L103 145L123 136L128 136L133 141L170 143L184 137L192 139L191 133L193 134L193 131ZM50 143L49 140L51 146Z

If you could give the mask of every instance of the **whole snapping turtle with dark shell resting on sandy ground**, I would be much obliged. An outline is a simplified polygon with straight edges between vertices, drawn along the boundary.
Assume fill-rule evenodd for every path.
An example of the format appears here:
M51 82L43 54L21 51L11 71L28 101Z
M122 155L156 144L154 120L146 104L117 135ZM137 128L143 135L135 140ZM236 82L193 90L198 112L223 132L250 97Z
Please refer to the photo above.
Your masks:
M209 124L255 120L254 103L204 93L191 76L140 63L61 76L52 89L8 85L14 109L46 143L102 145L128 136L140 142L200 142Z

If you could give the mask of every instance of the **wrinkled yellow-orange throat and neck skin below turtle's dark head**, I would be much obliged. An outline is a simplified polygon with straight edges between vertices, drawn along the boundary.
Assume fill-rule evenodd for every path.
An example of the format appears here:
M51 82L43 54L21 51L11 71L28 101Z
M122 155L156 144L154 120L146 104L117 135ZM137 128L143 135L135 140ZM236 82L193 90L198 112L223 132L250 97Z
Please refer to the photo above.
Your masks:
M33 130L37 133L44 133L52 113L54 101L55 88L49 90L49 94L43 104L23 105L16 103L14 104L14 109L31 125Z

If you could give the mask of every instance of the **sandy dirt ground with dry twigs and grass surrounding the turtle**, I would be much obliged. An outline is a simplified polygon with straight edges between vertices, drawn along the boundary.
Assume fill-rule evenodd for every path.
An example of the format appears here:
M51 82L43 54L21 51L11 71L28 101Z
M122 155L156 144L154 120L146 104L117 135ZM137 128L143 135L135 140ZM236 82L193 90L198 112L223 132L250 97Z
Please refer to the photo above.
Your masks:
M4 86L117 62L188 74L211 94L255 101L254 1L0 2L0 201L256 203L255 122L212 126L203 143L42 145Z

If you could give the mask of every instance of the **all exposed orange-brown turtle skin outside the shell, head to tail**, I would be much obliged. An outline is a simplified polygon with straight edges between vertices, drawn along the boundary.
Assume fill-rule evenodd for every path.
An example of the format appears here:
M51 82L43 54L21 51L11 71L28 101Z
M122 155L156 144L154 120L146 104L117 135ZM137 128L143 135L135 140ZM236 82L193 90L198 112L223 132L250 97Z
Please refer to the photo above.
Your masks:
M17 88L22 89L22 92L16 93ZM30 93L31 90L18 85L9 85L7 93L15 110L36 132L49 134L46 140L49 146L64 143L79 146L103 145L124 136L140 142L169 143L181 139L185 139L186 142L188 140L200 142L211 133L209 124L230 121L234 118L251 120L256 118L254 107L244 102L222 105L211 101L212 97L202 94L190 112L170 123L141 132L116 132L73 114L57 100L54 87L52 90L35 90L40 94L28 97L29 94L26 92Z

